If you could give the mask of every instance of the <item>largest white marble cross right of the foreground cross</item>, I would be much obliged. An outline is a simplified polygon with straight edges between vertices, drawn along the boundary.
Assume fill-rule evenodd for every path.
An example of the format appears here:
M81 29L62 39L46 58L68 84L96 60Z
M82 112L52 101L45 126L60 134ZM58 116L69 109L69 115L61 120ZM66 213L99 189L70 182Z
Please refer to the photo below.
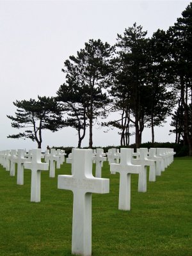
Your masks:
M120 149L120 164L110 164L110 171L120 173L118 209L129 211L131 209L131 173L140 175L142 166L131 163L132 148Z

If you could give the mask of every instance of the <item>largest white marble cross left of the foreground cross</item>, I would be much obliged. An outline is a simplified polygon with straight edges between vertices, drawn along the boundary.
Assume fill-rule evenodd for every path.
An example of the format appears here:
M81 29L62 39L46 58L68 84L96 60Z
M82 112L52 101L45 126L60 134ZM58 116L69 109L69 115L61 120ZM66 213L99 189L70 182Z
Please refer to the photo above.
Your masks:
M41 171L49 170L49 164L41 162L41 149L32 149L31 162L25 162L24 168L31 169L31 202L40 202Z

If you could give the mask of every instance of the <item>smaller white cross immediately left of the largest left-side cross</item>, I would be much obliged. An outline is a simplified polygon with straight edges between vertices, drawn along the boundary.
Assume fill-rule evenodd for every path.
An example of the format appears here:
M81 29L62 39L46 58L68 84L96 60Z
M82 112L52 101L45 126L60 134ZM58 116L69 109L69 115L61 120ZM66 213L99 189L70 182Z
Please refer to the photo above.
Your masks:
M24 162L28 161L24 157L24 149L18 149L18 156L15 159L15 163L17 163L17 184L24 184Z

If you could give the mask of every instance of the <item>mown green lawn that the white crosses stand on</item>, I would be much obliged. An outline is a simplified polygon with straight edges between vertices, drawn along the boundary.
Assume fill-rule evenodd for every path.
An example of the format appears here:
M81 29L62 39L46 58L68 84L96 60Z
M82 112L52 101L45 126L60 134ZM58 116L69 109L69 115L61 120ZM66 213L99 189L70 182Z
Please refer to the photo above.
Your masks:
M94 173L93 164L93 173ZM72 239L72 191L57 188L57 175L69 174L70 164L56 178L41 174L41 202L30 202L31 171L24 185L17 172L0 166L0 255L68 256ZM138 175L131 175L131 211L118 210L119 175L104 163L109 194L92 195L93 256L192 255L192 157L178 157L147 193L138 193Z

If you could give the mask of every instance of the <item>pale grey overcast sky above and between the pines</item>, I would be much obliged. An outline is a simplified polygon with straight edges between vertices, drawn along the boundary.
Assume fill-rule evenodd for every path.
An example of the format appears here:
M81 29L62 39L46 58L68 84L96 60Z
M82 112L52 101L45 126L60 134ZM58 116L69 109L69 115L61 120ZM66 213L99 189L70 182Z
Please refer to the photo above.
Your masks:
M157 29L173 26L190 1L1 1L0 0L0 150L36 148L31 140L8 139L18 131L6 115L14 115L15 100L55 96L65 81L61 72L70 55L84 48L89 39L113 45L116 35L134 22L150 37ZM170 121L169 121L170 122ZM156 141L174 141L170 127L156 128ZM88 131L87 131L88 133ZM143 142L150 141L143 132ZM131 142L134 143L134 137ZM119 145L116 130L104 133L94 128L93 146ZM52 146L77 146L76 130L43 131L42 149ZM88 146L88 136L83 147Z

